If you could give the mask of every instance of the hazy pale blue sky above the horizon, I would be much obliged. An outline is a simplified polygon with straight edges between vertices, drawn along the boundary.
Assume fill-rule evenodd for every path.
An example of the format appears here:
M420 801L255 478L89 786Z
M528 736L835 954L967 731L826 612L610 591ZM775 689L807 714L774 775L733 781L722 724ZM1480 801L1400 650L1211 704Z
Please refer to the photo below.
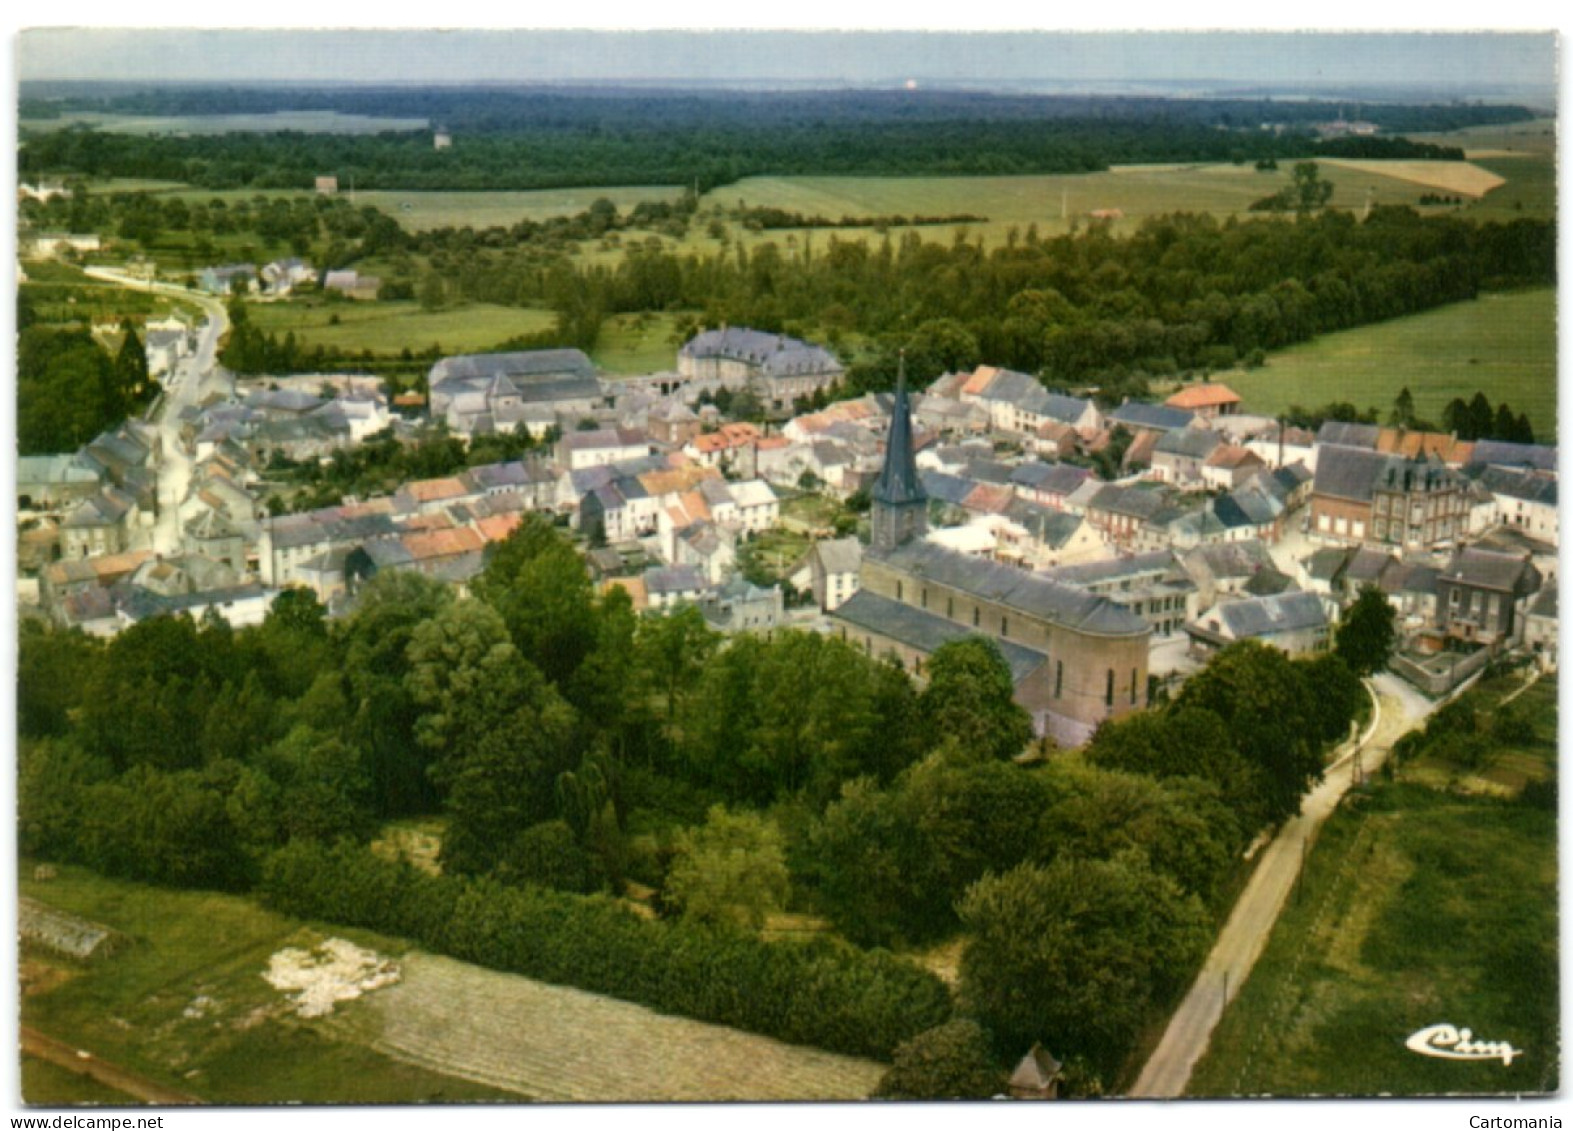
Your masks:
M24 30L16 77L1436 85L1543 90L1548 31Z

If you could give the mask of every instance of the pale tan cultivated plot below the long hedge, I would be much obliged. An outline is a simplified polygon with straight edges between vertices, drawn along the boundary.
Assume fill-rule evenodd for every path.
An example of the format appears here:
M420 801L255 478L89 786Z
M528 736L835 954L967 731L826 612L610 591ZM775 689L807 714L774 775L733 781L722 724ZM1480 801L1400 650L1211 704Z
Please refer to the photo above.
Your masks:
M547 1103L860 1100L873 1060L785 1044L434 955L337 1010L338 1037Z

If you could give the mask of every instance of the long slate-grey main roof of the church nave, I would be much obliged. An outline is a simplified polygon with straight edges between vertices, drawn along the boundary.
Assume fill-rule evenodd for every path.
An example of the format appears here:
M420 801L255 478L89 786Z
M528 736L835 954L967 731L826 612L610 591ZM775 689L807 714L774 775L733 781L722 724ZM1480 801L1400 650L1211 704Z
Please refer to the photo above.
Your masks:
M870 555L875 551L868 551ZM1107 598L933 543L908 543L881 554L892 568L930 577L963 593L1096 635L1147 635L1147 621Z

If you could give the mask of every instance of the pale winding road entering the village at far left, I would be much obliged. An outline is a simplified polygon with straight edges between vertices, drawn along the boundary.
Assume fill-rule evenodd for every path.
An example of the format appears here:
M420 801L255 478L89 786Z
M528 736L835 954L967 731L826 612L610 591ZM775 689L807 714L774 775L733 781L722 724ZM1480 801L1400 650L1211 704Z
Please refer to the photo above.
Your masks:
M208 316L197 338L197 351L190 357L182 359L175 367L175 371L165 376L164 400L159 404L156 417L162 439L162 456L159 462L159 516L153 527L151 546L159 554L179 554L179 507L186 499L186 488L190 484L192 477L192 459L181 450L179 444L181 411L198 404L211 392L225 395L234 392L233 376L216 365L219 338L230 329L230 316L219 299L189 291L184 286L175 286L173 283L149 285L145 280L109 267L88 267L87 274L109 283L195 302Z

